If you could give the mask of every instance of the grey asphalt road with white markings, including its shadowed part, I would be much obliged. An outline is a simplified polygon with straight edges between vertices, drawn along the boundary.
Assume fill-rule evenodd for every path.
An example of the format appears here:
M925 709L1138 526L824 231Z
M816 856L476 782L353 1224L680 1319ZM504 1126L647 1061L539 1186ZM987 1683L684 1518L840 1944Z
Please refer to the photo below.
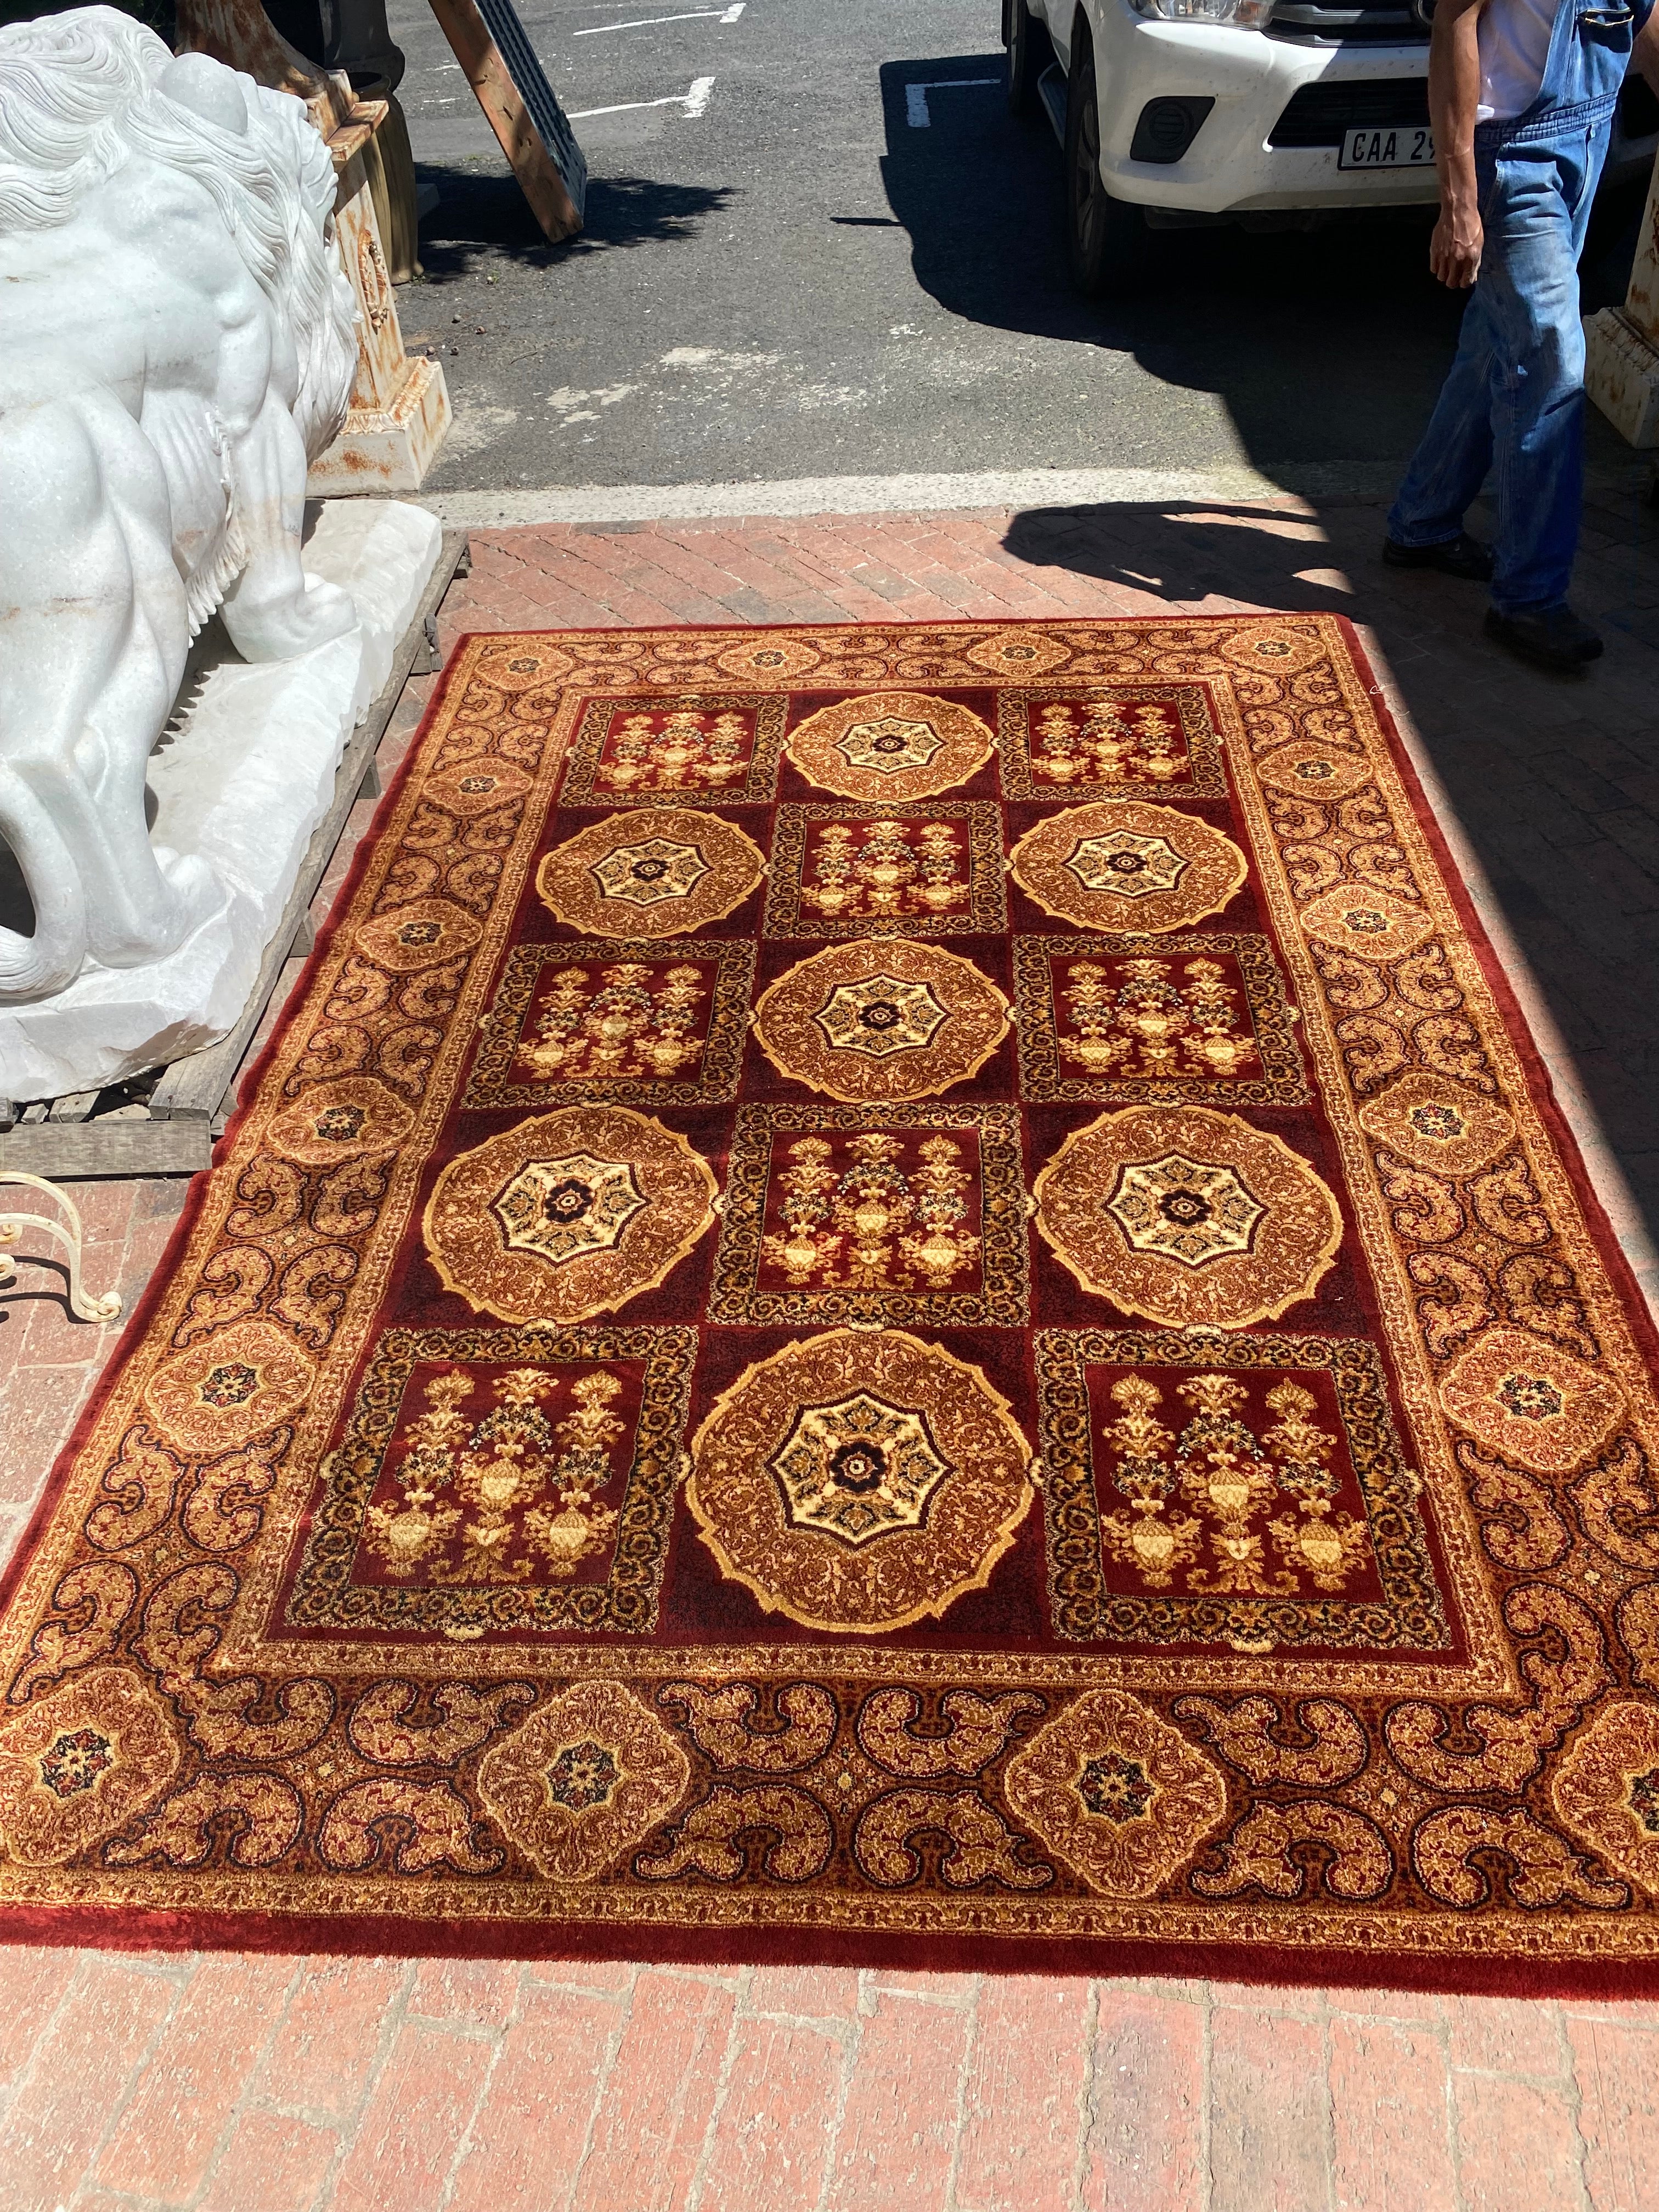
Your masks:
M440 192L400 294L456 400L431 491L1245 465L1340 493L1398 471L1460 316L1420 217L1166 232L1152 299L1079 301L1060 148L980 82L998 0L692 9L526 0L593 177L586 234L546 248L436 20L394 0ZM940 80L914 128L905 86ZM1621 228L1590 305L1621 296Z

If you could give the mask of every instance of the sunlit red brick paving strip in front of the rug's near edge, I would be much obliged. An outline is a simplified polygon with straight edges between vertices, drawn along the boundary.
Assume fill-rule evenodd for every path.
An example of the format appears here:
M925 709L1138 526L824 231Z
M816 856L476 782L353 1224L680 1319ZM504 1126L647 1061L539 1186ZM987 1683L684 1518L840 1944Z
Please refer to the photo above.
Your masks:
M1659 2006L0 1953L7 2212L1644 2212Z

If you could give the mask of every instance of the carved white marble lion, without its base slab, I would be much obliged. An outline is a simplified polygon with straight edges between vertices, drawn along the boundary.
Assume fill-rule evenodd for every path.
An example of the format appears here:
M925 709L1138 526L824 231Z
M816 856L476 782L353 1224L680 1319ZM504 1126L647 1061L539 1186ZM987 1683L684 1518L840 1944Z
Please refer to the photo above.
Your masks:
M0 838L33 905L0 1000L159 960L223 896L144 814L215 608L250 661L356 622L299 560L356 363L332 210L288 93L106 7L0 29Z

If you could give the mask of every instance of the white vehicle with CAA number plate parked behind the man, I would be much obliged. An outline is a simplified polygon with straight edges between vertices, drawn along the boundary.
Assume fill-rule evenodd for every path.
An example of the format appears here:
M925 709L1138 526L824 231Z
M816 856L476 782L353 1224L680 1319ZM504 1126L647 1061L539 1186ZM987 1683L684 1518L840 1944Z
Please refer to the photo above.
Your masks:
M1002 0L1009 106L1066 148L1073 279L1130 290L1155 232L1431 206L1433 0ZM1646 177L1659 102L1632 71L1608 181Z

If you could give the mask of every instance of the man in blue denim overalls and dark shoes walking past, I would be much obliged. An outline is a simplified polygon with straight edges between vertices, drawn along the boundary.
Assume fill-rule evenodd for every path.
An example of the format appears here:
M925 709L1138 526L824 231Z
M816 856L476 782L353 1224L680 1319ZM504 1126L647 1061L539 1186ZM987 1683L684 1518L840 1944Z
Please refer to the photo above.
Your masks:
M1440 0L1429 113L1440 170L1436 276L1473 285L1458 358L1387 522L1383 557L1491 580L1486 630L1546 668L1579 668L1601 639L1566 604L1584 491L1584 330L1577 261L1626 66L1659 91L1652 0L1557 0L1537 97L1478 122L1480 13L1540 0ZM1493 20L1489 33L1509 29ZM1524 35L1526 24L1517 20ZM1533 69L1537 64L1533 62ZM1489 64L1491 82L1491 64ZM1462 518L1495 469L1498 544Z

